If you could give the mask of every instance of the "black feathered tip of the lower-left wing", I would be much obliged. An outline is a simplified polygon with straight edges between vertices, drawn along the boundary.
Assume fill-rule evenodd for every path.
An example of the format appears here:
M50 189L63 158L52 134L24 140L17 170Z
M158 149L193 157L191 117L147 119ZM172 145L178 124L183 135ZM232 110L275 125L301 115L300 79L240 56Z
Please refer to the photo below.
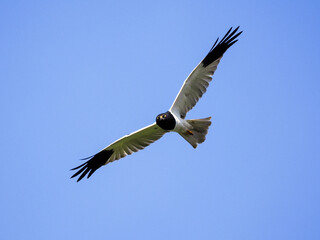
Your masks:
M108 159L111 157L112 154L113 154L113 150L102 150L101 152L98 152L97 154L91 157L81 159L81 160L87 160L87 159L89 160L78 167L70 169L70 170L77 170L80 168L80 170L78 170L75 174L73 174L71 178L74 178L79 174L81 174L77 180L77 182L79 182L82 178L84 178L87 175L87 173L89 173L87 176L87 178L89 178L98 168L100 168L101 166L105 165L108 162Z

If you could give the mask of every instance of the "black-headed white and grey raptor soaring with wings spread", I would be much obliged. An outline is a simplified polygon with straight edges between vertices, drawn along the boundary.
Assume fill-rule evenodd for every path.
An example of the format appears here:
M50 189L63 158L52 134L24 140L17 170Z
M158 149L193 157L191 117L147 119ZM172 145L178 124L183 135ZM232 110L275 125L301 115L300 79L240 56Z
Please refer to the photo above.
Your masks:
M242 33L238 31L239 27L234 30L231 27L220 41L217 38L208 54L186 78L167 112L157 115L153 124L125 135L97 154L82 159L87 161L71 169L78 170L71 178L80 175L77 182L86 175L89 178L103 165L144 149L168 132L180 134L193 148L203 143L211 125L211 117L186 120L186 114L206 92L223 54L238 41L237 37Z

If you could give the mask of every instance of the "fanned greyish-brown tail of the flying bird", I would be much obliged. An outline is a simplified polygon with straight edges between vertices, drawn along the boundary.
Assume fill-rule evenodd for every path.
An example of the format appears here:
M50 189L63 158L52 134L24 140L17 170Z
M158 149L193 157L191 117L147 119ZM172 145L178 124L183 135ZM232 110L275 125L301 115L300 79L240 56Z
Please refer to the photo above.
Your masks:
M191 125L191 129L185 133L180 133L180 135L187 140L192 147L196 148L198 143L203 143L204 140L206 140L208 128L211 125L210 119L211 117L187 120Z

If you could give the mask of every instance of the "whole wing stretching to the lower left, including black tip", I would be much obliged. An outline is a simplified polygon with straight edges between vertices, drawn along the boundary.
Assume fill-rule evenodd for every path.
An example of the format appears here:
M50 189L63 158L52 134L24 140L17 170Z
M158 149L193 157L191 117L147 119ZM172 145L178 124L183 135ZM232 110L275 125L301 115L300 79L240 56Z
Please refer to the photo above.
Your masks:
M168 131L161 129L156 123L153 123L129 135L125 135L97 154L85 158L84 160L89 159L87 162L71 169L76 170L80 168L71 178L78 176L80 173L78 182L86 174L88 174L87 178L89 178L101 166L144 149L161 138L166 132Z

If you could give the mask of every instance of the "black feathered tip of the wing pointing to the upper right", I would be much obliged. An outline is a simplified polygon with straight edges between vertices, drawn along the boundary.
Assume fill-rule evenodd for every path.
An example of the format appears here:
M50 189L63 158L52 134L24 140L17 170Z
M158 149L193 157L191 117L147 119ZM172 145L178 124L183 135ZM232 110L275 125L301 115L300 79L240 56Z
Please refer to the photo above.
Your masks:
M216 40L207 56L202 60L203 67L207 67L218 58L222 57L222 55L228 50L228 48L238 41L236 38L242 33L242 31L237 33L239 28L240 26L236 27L232 31L231 27L218 44L218 39Z

